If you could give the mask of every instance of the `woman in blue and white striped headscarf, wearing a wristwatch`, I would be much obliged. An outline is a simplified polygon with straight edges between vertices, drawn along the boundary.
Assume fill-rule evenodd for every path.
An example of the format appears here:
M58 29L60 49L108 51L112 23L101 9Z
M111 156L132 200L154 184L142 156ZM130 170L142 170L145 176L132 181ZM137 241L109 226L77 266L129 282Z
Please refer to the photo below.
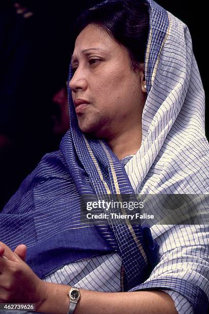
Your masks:
M1 215L1 302L54 313L206 313L205 226L154 224L153 242L143 224L79 221L82 194L208 192L189 31L152 0L107 1L78 22L69 81L71 128L60 151ZM77 304L69 306L67 284L80 288Z

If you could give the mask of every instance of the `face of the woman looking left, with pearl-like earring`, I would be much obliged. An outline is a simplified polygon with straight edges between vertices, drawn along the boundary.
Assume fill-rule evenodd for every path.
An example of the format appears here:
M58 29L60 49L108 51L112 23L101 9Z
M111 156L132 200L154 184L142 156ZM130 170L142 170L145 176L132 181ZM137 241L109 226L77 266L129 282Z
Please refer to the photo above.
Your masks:
M82 132L110 140L141 127L144 75L133 71L126 48L89 24L76 39L71 64L70 88Z

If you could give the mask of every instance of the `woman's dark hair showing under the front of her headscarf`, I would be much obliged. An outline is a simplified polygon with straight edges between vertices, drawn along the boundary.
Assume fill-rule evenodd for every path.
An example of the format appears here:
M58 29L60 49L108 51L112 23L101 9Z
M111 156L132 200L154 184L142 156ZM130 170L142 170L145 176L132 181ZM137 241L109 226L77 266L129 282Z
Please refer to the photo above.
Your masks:
M148 5L140 0L110 2L83 12L73 31L74 40L89 24L105 29L119 44L127 48L133 68L144 63L149 33Z

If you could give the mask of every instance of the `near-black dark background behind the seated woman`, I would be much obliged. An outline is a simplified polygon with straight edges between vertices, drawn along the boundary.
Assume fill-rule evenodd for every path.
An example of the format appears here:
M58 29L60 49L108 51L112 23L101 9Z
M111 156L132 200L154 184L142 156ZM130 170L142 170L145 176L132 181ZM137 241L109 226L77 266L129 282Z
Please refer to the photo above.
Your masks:
M17 14L14 1L0 5L0 210L46 152L58 149L52 132L52 96L67 79L70 32L83 9L100 1L19 1L33 15ZM204 8L191 1L157 0L190 29L193 49L206 90ZM206 107L206 117L208 108ZM206 118L208 135L208 119Z

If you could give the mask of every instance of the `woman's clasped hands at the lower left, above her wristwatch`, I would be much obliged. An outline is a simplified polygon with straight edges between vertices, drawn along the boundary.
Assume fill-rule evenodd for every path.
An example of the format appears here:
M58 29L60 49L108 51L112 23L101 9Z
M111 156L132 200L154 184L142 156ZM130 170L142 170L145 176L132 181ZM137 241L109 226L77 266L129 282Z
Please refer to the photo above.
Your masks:
M0 303L35 303L46 300L46 283L25 263L26 246L14 252L0 242Z

